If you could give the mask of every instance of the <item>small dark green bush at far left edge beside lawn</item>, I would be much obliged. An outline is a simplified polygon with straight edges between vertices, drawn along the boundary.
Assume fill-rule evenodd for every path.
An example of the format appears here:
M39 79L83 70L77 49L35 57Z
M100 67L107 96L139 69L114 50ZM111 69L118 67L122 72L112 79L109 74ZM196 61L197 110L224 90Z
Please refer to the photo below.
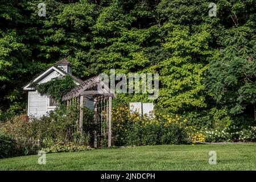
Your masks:
M0 158L13 155L14 140L10 135L0 133Z

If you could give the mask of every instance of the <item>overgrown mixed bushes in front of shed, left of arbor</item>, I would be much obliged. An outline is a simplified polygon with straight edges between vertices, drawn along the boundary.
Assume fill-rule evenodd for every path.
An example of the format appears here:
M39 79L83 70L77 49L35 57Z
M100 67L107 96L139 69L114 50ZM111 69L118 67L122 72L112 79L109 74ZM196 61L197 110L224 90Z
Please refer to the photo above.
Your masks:
M85 117L84 127L90 125L88 119L88 116ZM42 148L56 146L56 141L63 141L68 145L72 142L76 146L72 150L80 150L78 147L80 145L89 146L91 134L88 132L80 134L77 121L79 121L79 107L76 104L68 107L59 105L55 112L40 118L27 119L17 116L9 119L2 124L0 131L10 135L15 141L13 148L15 156L37 154Z

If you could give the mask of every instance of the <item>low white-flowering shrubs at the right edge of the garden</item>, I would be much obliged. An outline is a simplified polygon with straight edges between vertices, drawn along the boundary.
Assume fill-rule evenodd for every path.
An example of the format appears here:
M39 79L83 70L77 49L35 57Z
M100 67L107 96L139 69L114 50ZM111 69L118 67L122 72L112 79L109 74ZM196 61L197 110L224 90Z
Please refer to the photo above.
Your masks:
M256 127L240 129L238 126L225 127L223 130L205 129L207 142L250 142L256 139Z

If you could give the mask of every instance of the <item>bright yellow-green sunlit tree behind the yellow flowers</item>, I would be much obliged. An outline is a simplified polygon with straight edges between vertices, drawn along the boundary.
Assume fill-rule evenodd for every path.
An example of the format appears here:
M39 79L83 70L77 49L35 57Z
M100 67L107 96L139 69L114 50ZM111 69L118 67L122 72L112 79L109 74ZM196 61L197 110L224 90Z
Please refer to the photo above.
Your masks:
M205 57L211 53L209 39L207 26L192 35L187 26L175 26L168 34L163 46L171 56L159 64L159 104L164 108L181 112L207 106L203 80L208 69Z

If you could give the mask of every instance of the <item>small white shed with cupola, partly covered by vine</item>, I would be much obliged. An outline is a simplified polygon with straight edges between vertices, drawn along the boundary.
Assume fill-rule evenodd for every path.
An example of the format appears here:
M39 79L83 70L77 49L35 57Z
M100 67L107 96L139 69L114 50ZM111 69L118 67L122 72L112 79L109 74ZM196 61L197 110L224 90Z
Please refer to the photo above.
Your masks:
M75 84L80 85L82 80L72 75L72 64L66 59L60 60L47 71L32 80L23 87L28 92L27 115L40 117L46 115L49 111L56 108L56 102L48 96L41 96L35 88L31 87L31 83L42 84L52 80L52 78L71 75Z

